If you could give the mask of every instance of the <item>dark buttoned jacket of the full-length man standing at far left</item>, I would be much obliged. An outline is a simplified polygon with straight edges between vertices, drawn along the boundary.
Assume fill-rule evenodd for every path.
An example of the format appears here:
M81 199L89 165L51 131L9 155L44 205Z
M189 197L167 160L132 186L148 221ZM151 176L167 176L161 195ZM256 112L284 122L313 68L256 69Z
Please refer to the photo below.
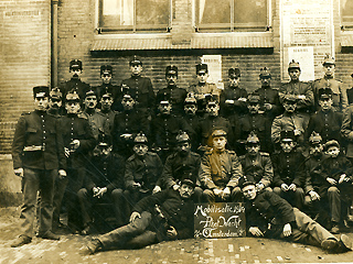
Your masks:
M12 143L13 168L66 169L58 119L45 111L23 113Z

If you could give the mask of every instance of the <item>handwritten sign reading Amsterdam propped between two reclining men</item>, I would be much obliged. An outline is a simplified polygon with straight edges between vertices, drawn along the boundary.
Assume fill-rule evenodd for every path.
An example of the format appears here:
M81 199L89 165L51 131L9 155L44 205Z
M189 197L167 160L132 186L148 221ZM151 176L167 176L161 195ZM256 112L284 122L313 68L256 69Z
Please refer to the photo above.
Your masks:
M242 202L195 204L194 238L238 238L246 232Z

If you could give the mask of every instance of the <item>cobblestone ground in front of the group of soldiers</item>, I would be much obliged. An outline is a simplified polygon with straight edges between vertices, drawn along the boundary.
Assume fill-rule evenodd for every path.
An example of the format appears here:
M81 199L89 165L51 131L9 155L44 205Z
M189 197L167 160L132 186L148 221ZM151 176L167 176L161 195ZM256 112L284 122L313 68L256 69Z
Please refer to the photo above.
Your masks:
M0 209L0 263L353 263L353 252L329 254L319 248L255 238L163 242L141 250L88 255L90 237L64 234L60 241L34 238L12 249L20 234L19 208ZM346 232L353 240L353 232Z

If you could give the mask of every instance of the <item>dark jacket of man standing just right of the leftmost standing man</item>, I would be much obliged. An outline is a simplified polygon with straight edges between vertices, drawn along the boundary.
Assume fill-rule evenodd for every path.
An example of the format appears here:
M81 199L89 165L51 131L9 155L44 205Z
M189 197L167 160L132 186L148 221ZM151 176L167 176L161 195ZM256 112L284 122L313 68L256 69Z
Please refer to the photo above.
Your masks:
M89 161L88 153L96 145L96 140L93 135L88 121L77 117L77 114L66 114L61 118L60 122L65 147L71 150L69 143L73 140L79 140L78 148L71 153L67 158L67 167L85 167Z

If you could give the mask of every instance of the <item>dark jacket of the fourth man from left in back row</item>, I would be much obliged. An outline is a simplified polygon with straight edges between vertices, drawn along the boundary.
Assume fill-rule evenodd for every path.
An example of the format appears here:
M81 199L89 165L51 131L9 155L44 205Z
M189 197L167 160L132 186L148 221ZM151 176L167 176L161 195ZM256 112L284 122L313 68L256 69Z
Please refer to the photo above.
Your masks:
M157 92L157 101L170 100L172 103L172 113L182 116L184 113L184 101L186 98L186 90L176 86L167 86Z

